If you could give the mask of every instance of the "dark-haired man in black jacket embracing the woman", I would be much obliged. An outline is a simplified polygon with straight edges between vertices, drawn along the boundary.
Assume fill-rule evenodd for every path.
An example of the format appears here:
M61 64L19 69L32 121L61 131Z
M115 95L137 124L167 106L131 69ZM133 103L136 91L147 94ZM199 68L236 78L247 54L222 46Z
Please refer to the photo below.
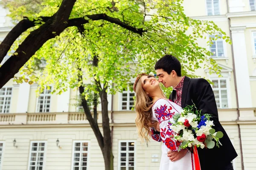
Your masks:
M158 81L168 88L173 87L172 94L169 96L173 102L182 108L193 105L212 116L216 131L223 132L224 136L220 139L223 146L212 149L198 148L201 170L233 170L231 161L236 158L237 153L234 149L227 133L218 120L218 110L212 88L205 79L191 79L181 76L181 65L177 58L172 55L165 55L155 64ZM169 151L168 157L171 161L182 158L188 150L180 152Z

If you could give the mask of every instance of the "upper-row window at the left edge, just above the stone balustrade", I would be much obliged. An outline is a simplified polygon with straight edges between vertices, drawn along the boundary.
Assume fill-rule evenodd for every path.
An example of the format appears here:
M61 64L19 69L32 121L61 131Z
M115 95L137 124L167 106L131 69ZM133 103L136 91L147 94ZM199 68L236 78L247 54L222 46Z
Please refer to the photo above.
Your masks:
M12 88L0 89L0 113L9 113L12 99Z

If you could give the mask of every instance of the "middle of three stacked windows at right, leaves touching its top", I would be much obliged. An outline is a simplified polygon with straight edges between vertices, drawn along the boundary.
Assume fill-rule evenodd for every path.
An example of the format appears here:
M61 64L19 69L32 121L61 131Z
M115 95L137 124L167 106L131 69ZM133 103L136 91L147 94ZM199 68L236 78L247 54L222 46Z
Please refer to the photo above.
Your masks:
M218 35L218 37L222 38L222 35ZM215 35L210 35L209 38L212 40L212 46L210 47L211 57L225 57L223 40L220 38L215 40Z

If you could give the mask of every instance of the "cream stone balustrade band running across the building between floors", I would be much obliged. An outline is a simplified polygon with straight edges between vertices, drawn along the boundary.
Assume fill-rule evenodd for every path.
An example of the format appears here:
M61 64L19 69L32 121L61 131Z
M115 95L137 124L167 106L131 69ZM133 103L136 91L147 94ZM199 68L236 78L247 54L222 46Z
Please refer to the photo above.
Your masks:
M219 109L219 120L222 124L237 122L236 109ZM239 121L256 121L256 108L240 109ZM136 113L134 111L108 112L110 123L135 124ZM111 117L113 120L111 120ZM102 123L101 112L98 112L98 123ZM61 113L3 113L0 114L0 125L58 125L58 124L89 124L82 112Z

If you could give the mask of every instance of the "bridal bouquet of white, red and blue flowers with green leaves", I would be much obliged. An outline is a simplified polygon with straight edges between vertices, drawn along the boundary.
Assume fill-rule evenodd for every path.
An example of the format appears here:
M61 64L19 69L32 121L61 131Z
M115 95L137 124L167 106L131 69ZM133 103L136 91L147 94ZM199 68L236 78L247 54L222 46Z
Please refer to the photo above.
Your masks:
M217 147L219 144L221 145L219 139L223 137L223 133L221 131L215 132L210 117L209 114L202 114L194 105L183 108L181 114L173 116L170 129L176 133L172 137L181 143L178 150L186 147L211 149L215 143Z

